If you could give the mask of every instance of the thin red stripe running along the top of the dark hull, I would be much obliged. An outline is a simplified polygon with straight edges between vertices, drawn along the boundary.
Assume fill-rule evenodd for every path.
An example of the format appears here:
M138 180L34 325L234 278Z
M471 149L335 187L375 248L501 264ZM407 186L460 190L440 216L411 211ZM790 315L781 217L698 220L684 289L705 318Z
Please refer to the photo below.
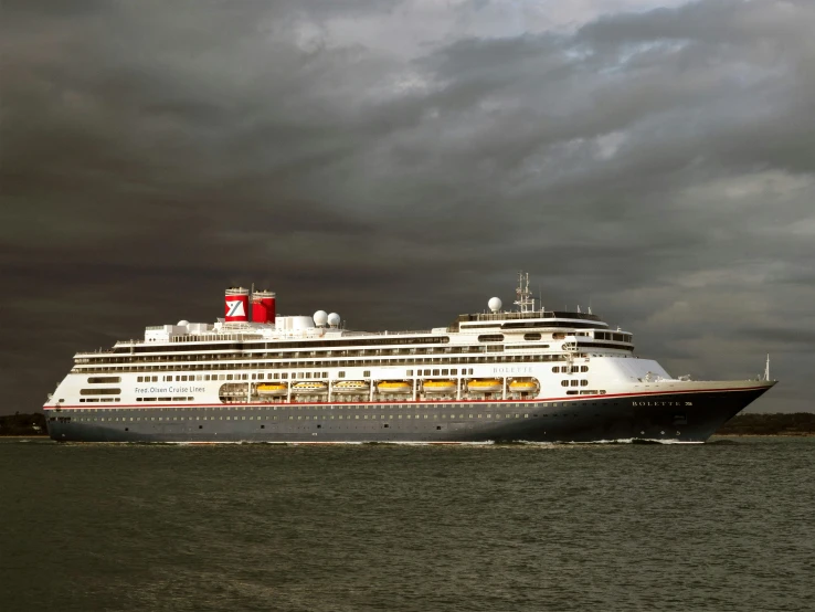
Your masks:
M425 405L425 404L435 404L435 403L454 403L454 404L475 404L475 403L540 403L540 402L573 402L573 401L585 401L585 400L596 400L596 399L607 399L607 398L637 398L643 395L678 395L678 394L685 394L685 393L723 393L723 392L730 392L730 391L756 391L759 389L769 389L768 386L760 386L760 387L733 387L729 389L688 389L688 390L674 390L674 391L645 391L645 392L638 392L638 393L606 393L604 395L569 395L565 398L540 398L540 399L533 399L533 400L435 400L435 401L413 401L413 400L405 400L405 401L375 401L375 402L292 402L292 403L282 403L282 402L272 402L272 403L264 403L264 402L251 402L251 403L215 403L215 402L209 402L209 403L160 403L160 402L142 402L137 404L121 404L121 403L114 403L114 402L104 402L99 403L97 405L87 405L87 404L66 404L61 405L60 408L70 408L70 409L88 409L88 410L96 410L102 408L204 408L204 407L211 407L211 408L222 408L227 405L236 405L236 407L272 407L272 405L281 405L281 407L288 407L288 405L371 405L372 403L375 404L416 404L416 405ZM43 405L43 410L54 410L56 407L53 405Z

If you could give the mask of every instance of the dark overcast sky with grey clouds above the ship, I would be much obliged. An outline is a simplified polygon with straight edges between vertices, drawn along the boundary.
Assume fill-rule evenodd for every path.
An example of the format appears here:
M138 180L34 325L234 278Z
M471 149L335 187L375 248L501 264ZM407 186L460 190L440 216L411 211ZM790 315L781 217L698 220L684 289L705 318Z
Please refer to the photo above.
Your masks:
M815 410L812 0L3 0L0 413L231 284L361 329L529 271Z

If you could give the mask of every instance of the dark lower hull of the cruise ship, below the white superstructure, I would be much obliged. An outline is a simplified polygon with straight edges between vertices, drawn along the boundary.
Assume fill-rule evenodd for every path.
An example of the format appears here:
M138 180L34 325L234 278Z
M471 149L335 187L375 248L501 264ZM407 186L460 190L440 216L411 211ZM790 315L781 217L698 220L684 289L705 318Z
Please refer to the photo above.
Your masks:
M770 387L549 402L63 409L49 411L49 433L61 442L705 442Z

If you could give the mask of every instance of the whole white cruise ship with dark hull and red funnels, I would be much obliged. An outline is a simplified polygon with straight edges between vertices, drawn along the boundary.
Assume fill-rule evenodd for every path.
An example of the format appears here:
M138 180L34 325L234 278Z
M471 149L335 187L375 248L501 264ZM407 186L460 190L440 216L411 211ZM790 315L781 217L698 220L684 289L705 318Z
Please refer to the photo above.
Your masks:
M444 327L354 331L277 316L276 295L226 289L214 324L147 327L77 352L44 404L63 442L703 442L775 381L674 378L589 312L516 308ZM251 314L251 317L250 317Z

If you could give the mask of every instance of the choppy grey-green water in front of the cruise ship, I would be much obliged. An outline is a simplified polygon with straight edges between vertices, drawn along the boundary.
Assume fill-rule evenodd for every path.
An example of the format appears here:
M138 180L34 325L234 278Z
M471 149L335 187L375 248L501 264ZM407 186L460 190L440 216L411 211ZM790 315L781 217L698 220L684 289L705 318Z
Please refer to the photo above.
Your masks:
M812 610L815 439L0 442L7 611Z

